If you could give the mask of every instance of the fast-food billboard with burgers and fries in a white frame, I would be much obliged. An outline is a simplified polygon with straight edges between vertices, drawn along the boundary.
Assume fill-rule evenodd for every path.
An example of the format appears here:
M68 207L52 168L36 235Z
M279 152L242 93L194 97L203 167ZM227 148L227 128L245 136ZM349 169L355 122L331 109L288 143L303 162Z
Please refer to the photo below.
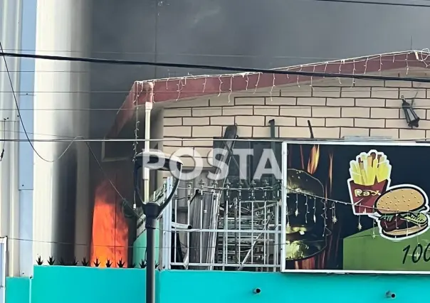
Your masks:
M429 154L428 144L283 143L282 270L430 272Z

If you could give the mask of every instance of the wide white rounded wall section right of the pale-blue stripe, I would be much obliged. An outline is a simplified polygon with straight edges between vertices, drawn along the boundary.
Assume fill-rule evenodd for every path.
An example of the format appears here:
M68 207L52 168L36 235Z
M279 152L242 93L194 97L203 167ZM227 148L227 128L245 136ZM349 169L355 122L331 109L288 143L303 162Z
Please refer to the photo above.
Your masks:
M88 56L90 2L38 0L36 54ZM36 60L35 139L88 137L88 112L82 110L90 107L88 80L86 63ZM70 147L67 142L35 142L34 147L44 159L34 156L33 260L63 252L88 257L83 244L90 243L90 215L88 207L80 209L89 201L88 148L83 142ZM76 251L73 243L80 243Z

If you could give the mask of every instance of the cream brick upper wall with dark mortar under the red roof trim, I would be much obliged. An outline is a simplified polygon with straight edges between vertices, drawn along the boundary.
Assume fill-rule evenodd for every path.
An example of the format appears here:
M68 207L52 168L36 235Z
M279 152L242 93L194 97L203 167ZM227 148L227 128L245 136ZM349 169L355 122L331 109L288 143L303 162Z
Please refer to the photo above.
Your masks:
M164 107L164 151L172 153L179 146L195 147L205 155L212 146L212 137L221 137L226 126L234 123L239 137L270 137L270 119L275 119L276 135L283 138L309 138L308 120L315 137L320 139L430 137L430 88L426 85L355 80L351 87L351 82L346 79L338 84L324 80L314 87L306 84L277 87L272 96L270 92L254 94L250 90L232 94L230 102L227 95L220 95L167 105ZM410 129L404 120L402 95L407 98L416 95L414 107L421 117L418 129Z

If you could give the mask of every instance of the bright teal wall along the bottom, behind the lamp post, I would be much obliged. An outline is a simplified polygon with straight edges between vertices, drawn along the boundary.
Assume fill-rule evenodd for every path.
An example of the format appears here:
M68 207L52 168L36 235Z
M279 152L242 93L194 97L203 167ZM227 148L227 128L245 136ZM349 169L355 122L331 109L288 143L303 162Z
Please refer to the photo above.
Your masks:
M430 275L309 275L274 272L157 271L158 303L409 303ZM253 290L261 289L260 294ZM145 302L145 270L35 267L33 279L8 278L6 303Z

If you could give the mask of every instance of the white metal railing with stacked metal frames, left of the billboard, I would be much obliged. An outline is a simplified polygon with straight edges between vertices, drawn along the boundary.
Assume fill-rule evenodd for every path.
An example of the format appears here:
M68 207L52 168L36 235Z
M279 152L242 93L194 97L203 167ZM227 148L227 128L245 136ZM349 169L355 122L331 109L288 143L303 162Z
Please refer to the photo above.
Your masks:
M279 270L280 182L248 185L226 180L219 186L201 177L183 182L164 213L172 220L163 220L167 225L163 237L168 237L163 243L172 243L168 247L174 248L169 264L164 265L193 270Z

